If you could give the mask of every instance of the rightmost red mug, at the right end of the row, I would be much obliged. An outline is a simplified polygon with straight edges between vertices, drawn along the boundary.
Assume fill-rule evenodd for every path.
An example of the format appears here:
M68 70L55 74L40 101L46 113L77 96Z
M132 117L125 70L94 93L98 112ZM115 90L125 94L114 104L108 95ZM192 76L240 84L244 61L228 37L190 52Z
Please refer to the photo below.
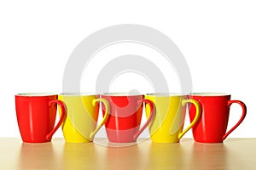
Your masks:
M196 93L190 94L189 99L197 100L201 105L201 117L192 127L196 142L222 143L227 136L238 127L247 114L246 105L240 100L230 100L230 94ZM226 132L230 116L230 105L241 105L242 114L236 125ZM195 117L195 106L189 106L189 117Z

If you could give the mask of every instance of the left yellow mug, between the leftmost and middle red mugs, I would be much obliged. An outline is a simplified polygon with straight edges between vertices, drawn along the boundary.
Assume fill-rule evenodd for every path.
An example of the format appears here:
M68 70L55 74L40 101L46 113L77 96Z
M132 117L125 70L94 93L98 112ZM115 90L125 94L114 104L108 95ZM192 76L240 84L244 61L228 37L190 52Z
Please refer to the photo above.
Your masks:
M58 99L65 103L67 109L67 118L62 124L62 133L66 142L93 141L95 134L108 120L109 114L105 114L102 122L97 126L99 102L105 105L109 113L108 100L98 97L96 94L59 94Z

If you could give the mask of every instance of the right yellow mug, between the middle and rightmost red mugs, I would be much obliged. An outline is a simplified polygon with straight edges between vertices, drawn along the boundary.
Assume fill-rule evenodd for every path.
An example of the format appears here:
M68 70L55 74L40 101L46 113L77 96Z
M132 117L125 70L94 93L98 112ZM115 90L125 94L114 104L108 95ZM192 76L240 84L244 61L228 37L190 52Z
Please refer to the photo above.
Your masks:
M183 94L146 94L145 99L154 102L155 116L149 125L150 138L155 143L177 143L191 127L195 125L201 114L201 105L195 99L188 99ZM187 103L195 105L194 120L183 130ZM146 116L150 109L146 105Z

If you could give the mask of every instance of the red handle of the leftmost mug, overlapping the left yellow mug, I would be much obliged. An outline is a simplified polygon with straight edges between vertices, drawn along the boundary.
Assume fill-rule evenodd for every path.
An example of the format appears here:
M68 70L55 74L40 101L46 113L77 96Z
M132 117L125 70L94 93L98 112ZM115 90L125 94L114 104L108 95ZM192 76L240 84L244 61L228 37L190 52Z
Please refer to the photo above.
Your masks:
M61 107L61 116L60 116L60 120L57 123L57 125L51 130L50 133L48 133L46 135L46 139L49 140L52 138L52 135L56 132L56 130L61 127L62 122L64 122L66 116L67 116L67 110L66 110L66 105L64 104L64 102L62 102L61 100L58 99L54 99L54 100L50 100L49 101L49 106L53 105L53 104L57 104L60 105Z

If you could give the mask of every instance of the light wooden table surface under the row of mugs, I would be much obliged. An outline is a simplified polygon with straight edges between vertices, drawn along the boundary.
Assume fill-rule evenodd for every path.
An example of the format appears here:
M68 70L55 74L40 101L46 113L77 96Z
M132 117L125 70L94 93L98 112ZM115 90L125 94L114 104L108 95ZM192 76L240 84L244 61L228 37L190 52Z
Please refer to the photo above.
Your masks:
M98 139L100 141L100 139ZM0 169L256 169L256 139L226 139L223 144L154 144L144 139L126 147L68 144L53 139L25 144L0 138Z

